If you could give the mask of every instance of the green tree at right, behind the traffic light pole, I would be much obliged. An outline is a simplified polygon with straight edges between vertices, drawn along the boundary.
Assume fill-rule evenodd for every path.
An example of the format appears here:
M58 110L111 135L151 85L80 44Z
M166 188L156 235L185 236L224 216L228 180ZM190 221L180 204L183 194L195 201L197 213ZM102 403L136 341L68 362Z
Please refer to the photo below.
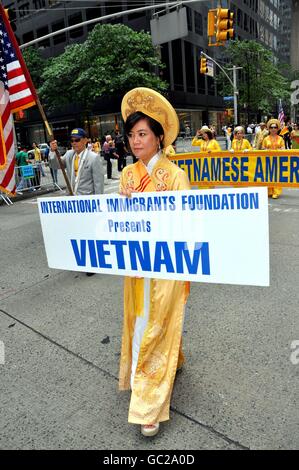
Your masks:
M276 112L278 100L289 102L290 81L283 74L285 68L277 65L273 53L254 40L232 41L224 51L228 67L243 67L238 76L238 104L247 113ZM221 73L219 92L232 94L231 85Z

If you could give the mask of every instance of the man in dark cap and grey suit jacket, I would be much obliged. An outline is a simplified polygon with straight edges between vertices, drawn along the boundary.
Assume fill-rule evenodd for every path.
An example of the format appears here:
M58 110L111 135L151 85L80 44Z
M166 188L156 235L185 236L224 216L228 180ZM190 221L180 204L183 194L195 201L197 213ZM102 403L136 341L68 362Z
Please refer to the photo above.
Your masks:
M72 149L68 150L62 162L75 195L102 194L104 192L104 171L98 155L86 148L88 138L84 129L77 127L70 135ZM57 149L57 141L50 143L51 151Z

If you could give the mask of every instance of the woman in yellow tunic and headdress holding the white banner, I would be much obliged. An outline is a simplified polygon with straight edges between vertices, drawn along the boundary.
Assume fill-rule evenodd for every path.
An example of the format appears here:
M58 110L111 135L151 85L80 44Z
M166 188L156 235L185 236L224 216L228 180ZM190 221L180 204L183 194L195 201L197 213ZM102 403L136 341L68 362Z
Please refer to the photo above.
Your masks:
M135 88L123 98L121 109L129 147L138 161L122 171L120 193L130 197L136 191L189 189L186 173L163 153L179 131L171 104L153 90ZM141 424L144 436L157 434L159 423L169 419L176 370L184 361L188 288L184 281L125 278L119 388L131 387L128 420Z

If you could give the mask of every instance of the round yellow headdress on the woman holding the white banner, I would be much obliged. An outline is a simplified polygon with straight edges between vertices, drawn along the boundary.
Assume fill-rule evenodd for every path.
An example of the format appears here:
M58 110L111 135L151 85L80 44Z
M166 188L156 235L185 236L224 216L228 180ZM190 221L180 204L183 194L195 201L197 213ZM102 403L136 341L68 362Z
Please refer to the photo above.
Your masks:
M121 114L126 121L130 114L140 111L158 121L164 130L164 147L172 144L179 133L180 124L172 105L157 91L134 88L128 91L121 103Z

